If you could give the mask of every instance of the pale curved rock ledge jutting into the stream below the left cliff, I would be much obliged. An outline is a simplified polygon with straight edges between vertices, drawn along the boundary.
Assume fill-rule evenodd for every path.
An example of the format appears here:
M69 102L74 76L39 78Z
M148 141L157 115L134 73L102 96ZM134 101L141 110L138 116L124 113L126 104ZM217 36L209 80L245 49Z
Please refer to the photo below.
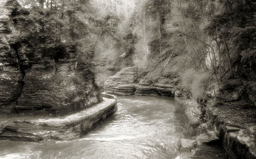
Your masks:
M114 96L103 94L103 101L88 109L64 117L23 118L0 122L0 140L71 140L84 135L117 110ZM108 97L108 98L106 98Z

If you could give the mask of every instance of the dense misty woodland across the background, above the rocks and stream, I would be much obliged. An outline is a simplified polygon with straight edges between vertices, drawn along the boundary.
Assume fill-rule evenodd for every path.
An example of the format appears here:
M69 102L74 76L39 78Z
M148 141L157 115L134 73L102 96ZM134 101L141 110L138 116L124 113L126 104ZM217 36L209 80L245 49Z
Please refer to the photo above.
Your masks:
M23 23L22 36L33 37L29 38L32 43L43 46L46 55L56 59L65 56L56 51L58 48L72 45L79 50L78 67L94 72L101 87L108 76L130 66L138 66L141 82L157 83L160 74L166 78L180 76L175 83L195 98L204 98L209 86L220 89L220 83L228 79L256 80L254 1L19 3L27 8L23 15L15 17ZM172 61L177 57L180 59ZM170 72L170 59L184 66L183 70ZM157 65L162 68L148 78L147 74ZM214 95L221 96L215 92Z

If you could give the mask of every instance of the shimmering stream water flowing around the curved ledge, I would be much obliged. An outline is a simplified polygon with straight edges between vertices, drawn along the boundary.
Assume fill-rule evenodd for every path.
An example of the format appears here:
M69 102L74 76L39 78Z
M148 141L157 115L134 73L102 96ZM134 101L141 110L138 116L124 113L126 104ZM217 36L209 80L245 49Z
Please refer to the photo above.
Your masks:
M118 97L118 110L72 141L0 141L0 158L176 158L192 128L174 98Z

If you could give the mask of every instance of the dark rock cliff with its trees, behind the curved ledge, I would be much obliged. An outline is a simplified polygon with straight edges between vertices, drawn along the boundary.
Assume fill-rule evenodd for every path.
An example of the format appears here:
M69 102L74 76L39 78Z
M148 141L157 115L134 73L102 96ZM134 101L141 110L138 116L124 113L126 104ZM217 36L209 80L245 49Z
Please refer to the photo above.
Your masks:
M111 16L89 1L20 2L28 8L1 7L1 111L63 115L99 102L92 61Z

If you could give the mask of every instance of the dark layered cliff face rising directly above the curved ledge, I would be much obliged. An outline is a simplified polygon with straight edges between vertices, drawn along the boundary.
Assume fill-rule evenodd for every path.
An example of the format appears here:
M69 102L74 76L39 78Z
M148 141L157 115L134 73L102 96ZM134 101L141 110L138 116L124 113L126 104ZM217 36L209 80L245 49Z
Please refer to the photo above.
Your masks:
M14 0L0 6L1 113L63 115L101 101L93 72L77 61L76 45L36 46L38 37L22 37L19 29L18 16L30 12Z

